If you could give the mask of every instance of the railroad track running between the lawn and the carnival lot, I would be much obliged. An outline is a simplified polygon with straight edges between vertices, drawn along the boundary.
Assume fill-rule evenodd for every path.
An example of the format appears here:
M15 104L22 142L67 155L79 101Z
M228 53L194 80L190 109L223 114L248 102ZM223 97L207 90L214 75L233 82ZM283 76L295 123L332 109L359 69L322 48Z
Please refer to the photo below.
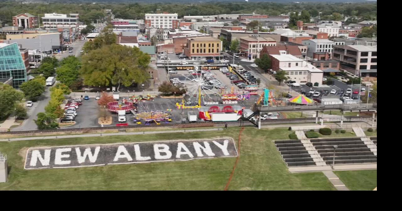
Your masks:
M345 121L348 120L359 120L359 119L365 119L371 116L359 116L359 117L344 117ZM297 118L297 119L267 119L267 120L261 120L261 125L271 125L271 124L283 124L283 123L310 123L310 122L315 122L316 118ZM248 121L236 121L236 122L227 122L228 125L252 125L252 123ZM85 127L85 128L73 128L73 129L55 129L55 130L30 130L30 131L10 131L10 132L0 132L0 135L6 135L6 134L28 134L28 133L54 133L54 132L68 132L68 131L84 131L84 130L95 130L95 131L101 131L101 130L108 130L108 129L128 129L128 128L146 128L146 127L172 127L172 126L181 126L178 127L177 129L180 128L187 128L186 126L191 126L191 127L211 127L211 122L200 122L200 123L172 123L172 124L166 124L166 125L129 125L129 126L124 126L124 127L116 127L116 126L111 126L111 127ZM225 123L213 123L212 127L223 127ZM189 127L190 128L190 127Z

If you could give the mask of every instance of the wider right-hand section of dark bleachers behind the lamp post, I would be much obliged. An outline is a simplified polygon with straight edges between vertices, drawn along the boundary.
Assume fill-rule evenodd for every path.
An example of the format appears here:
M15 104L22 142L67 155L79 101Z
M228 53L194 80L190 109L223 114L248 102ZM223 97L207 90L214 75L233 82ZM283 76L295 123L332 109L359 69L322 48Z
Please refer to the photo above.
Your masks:
M373 163L377 162L377 155L373 154L360 137L335 138L335 139L311 139L311 143L326 164L332 164L335 150L335 164ZM377 140L375 144L377 144Z

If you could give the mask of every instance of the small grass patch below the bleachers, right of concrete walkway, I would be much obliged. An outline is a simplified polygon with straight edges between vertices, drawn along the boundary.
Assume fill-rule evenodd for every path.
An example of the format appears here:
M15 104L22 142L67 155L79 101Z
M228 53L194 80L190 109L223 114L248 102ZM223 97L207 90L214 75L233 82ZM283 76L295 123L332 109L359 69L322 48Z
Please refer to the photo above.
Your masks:
M334 173L351 191L372 191L377 187L377 170L336 171Z

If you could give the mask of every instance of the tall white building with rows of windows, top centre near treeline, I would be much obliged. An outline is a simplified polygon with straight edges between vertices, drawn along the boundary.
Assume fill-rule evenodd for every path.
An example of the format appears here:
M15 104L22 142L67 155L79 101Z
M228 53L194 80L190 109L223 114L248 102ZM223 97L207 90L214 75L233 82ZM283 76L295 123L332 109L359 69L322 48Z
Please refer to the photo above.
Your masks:
M145 26L158 29L177 29L177 13L145 14Z

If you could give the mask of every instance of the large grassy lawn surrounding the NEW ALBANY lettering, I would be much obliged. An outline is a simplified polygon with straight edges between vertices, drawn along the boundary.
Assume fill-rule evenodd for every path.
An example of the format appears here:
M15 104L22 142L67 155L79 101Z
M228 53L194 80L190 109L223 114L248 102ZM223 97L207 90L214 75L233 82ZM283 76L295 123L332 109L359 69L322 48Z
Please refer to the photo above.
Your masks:
M246 127L240 160L229 190L335 190L321 172L289 173L272 140L288 139L287 128ZM24 170L25 153L33 146L124 143L169 139L233 137L239 127L224 131L162 133L0 142L8 155L9 181L0 190L224 190L236 158L121 164L83 168Z

